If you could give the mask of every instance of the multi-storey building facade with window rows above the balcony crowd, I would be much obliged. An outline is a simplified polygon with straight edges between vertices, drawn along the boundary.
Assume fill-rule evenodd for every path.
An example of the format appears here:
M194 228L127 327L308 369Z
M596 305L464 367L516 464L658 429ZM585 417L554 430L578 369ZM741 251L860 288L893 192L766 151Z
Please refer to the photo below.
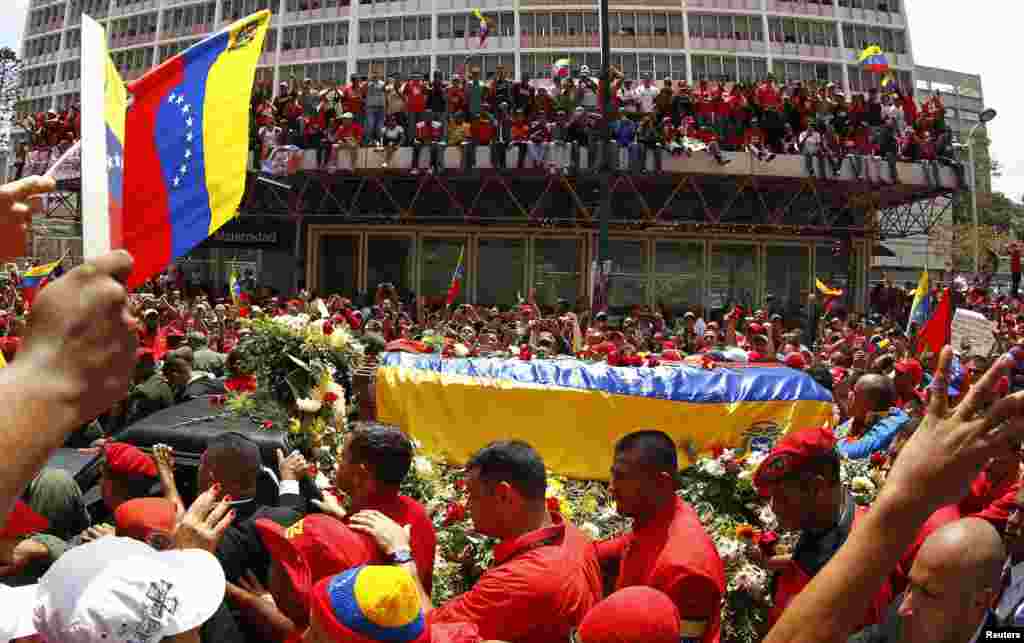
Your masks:
M480 9L495 26L480 45ZM377 69L409 75L461 73L479 65L543 77L552 62L600 66L597 3L585 0L32 0L22 55L23 111L77 100L81 16L104 24L115 62L137 78L205 35L270 9L260 59L264 81L346 82ZM879 43L904 87L913 58L900 0L623 0L609 12L611 63L628 78L834 82L847 92L877 86L856 63Z

